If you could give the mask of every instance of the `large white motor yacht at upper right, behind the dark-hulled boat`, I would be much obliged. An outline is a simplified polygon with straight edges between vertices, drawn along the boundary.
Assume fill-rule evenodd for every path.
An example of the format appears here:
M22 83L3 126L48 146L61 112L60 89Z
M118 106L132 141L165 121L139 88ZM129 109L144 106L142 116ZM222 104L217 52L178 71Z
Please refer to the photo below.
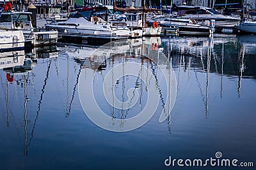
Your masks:
M177 6L177 15L182 18L194 18L197 22L215 20L216 27L233 27L241 20L239 17L222 15L212 8L205 6Z

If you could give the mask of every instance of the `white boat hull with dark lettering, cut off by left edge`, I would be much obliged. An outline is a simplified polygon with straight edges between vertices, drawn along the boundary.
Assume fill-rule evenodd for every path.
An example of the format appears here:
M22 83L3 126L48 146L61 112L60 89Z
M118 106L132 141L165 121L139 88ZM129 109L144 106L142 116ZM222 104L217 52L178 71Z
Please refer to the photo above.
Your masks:
M22 31L0 29L0 52L24 50Z

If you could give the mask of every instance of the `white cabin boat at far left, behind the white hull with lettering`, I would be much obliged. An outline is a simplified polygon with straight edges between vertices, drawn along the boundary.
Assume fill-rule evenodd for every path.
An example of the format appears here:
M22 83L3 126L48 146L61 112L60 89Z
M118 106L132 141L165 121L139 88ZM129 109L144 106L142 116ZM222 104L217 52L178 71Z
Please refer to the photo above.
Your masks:
M2 29L17 29L23 32L25 40L33 46L56 44L58 31L35 29L31 24L31 13L25 11L4 11L0 14Z

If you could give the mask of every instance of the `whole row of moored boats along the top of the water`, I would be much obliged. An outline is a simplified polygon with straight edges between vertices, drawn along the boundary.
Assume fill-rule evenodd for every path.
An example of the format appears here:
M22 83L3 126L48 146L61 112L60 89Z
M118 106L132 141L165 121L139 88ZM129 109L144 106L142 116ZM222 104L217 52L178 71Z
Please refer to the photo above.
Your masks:
M38 8L48 8L42 17ZM86 6L60 17L56 6L30 4L17 11L5 3L0 13L0 50L22 50L25 46L43 46L63 41L100 45L115 39L141 38L168 34L209 35L215 27L237 27L255 33L255 20L222 15L203 6L177 6L177 11L159 14L157 9ZM154 12L157 11L157 12ZM52 13L52 15L51 15ZM200 13L200 14L199 14ZM53 15L54 14L54 15ZM38 17L40 16L40 17ZM51 17L49 17L51 16Z

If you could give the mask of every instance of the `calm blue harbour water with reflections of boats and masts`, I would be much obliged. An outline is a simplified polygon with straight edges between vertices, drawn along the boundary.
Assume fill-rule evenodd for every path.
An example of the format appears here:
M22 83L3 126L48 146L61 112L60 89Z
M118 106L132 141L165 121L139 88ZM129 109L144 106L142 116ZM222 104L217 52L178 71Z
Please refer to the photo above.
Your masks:
M96 49L60 43L26 54L1 53L0 169L186 169L166 167L164 160L205 160L216 152L223 159L254 162L255 168L255 36L132 39L90 55ZM137 75L125 75L128 62L140 66ZM111 80L115 66L125 76ZM170 69L176 80L171 112L168 78L173 77L164 79ZM79 97L87 97L81 94L82 80L92 84L98 106L89 102L82 108ZM159 99L148 94L150 88ZM138 99L128 110L104 97L108 92L131 106L129 89ZM122 131L148 100L159 102L156 113L134 131L107 131L84 113L100 108L113 118L109 127ZM159 123L163 110L167 118Z

